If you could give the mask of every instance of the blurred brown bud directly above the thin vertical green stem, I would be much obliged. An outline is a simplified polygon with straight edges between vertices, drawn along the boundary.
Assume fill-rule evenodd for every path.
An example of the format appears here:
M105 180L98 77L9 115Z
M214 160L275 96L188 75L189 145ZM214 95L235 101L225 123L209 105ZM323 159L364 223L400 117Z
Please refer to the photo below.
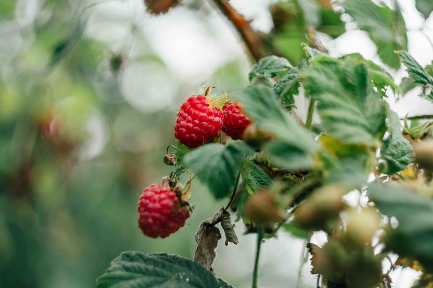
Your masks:
M257 224L272 224L284 217L271 191L262 189L246 203L246 216Z

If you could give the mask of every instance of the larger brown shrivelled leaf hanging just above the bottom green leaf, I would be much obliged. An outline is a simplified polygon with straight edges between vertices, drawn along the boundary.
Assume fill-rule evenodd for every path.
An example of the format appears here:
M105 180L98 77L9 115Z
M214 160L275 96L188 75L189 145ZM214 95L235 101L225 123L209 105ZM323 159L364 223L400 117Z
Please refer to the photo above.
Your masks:
M215 250L218 246L218 241L221 239L220 229L215 226L205 226L202 223L194 237L197 242L194 261L213 272L212 264L216 258Z

